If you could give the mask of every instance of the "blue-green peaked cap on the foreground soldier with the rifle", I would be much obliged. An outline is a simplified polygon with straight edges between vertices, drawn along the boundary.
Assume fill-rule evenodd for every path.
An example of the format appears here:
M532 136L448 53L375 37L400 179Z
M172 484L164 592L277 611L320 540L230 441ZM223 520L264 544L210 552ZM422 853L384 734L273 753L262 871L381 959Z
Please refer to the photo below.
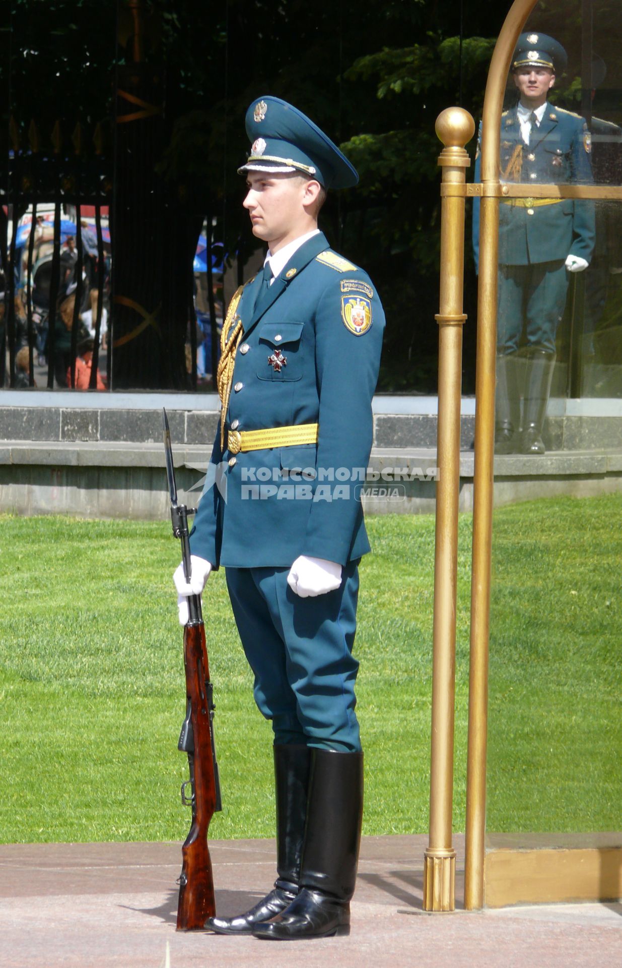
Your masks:
M324 188L352 188L359 176L330 137L297 107L264 95L252 102L246 116L252 146L247 171L300 171Z

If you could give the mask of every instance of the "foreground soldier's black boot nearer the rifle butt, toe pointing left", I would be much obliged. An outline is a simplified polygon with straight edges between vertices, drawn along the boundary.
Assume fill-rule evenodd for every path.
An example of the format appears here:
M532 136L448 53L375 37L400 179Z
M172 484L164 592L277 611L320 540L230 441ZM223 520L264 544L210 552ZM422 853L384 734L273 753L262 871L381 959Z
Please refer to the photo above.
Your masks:
M283 744L274 747L277 791L277 880L273 890L237 918L210 918L205 926L217 934L252 934L255 924L283 911L298 893L307 818L311 749Z

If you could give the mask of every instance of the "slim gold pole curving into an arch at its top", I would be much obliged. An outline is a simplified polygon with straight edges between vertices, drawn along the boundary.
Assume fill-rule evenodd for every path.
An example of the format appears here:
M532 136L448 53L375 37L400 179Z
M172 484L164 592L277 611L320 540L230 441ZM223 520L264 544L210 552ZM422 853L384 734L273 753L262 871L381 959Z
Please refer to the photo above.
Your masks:
M515 0L492 53L482 116L482 202L475 377L475 468L469 666L464 907L484 906L486 853L486 752L489 702L492 462L499 234L499 132L512 53L537 0ZM487 190L489 195L487 195ZM495 197L496 191L496 197Z

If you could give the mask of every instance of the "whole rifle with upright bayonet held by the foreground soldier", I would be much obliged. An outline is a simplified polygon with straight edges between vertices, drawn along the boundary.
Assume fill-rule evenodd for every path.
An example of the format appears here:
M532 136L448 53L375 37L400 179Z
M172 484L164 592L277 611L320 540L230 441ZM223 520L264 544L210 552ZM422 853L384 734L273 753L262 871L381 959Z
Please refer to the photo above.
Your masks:
M173 452L166 411L163 410L166 475L170 494L173 535L182 543L182 563L186 581L191 576L190 531L188 516L193 508L177 501ZM188 597L189 619L184 628L184 667L186 669L186 718L178 748L188 753L190 780L182 783L182 803L192 806L193 824L182 847L183 865L179 877L177 930L201 930L216 914L212 862L207 846L207 830L213 814L222 809L221 784L214 744L214 701L205 647L205 626L200 595ZM190 787L191 796L187 795Z

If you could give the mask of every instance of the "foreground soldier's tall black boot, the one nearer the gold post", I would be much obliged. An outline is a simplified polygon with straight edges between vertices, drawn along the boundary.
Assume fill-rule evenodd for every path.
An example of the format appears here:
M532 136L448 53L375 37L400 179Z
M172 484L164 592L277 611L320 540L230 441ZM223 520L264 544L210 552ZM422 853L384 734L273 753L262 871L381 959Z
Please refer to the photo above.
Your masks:
M363 753L314 749L300 889L255 938L295 941L350 933L363 819Z

